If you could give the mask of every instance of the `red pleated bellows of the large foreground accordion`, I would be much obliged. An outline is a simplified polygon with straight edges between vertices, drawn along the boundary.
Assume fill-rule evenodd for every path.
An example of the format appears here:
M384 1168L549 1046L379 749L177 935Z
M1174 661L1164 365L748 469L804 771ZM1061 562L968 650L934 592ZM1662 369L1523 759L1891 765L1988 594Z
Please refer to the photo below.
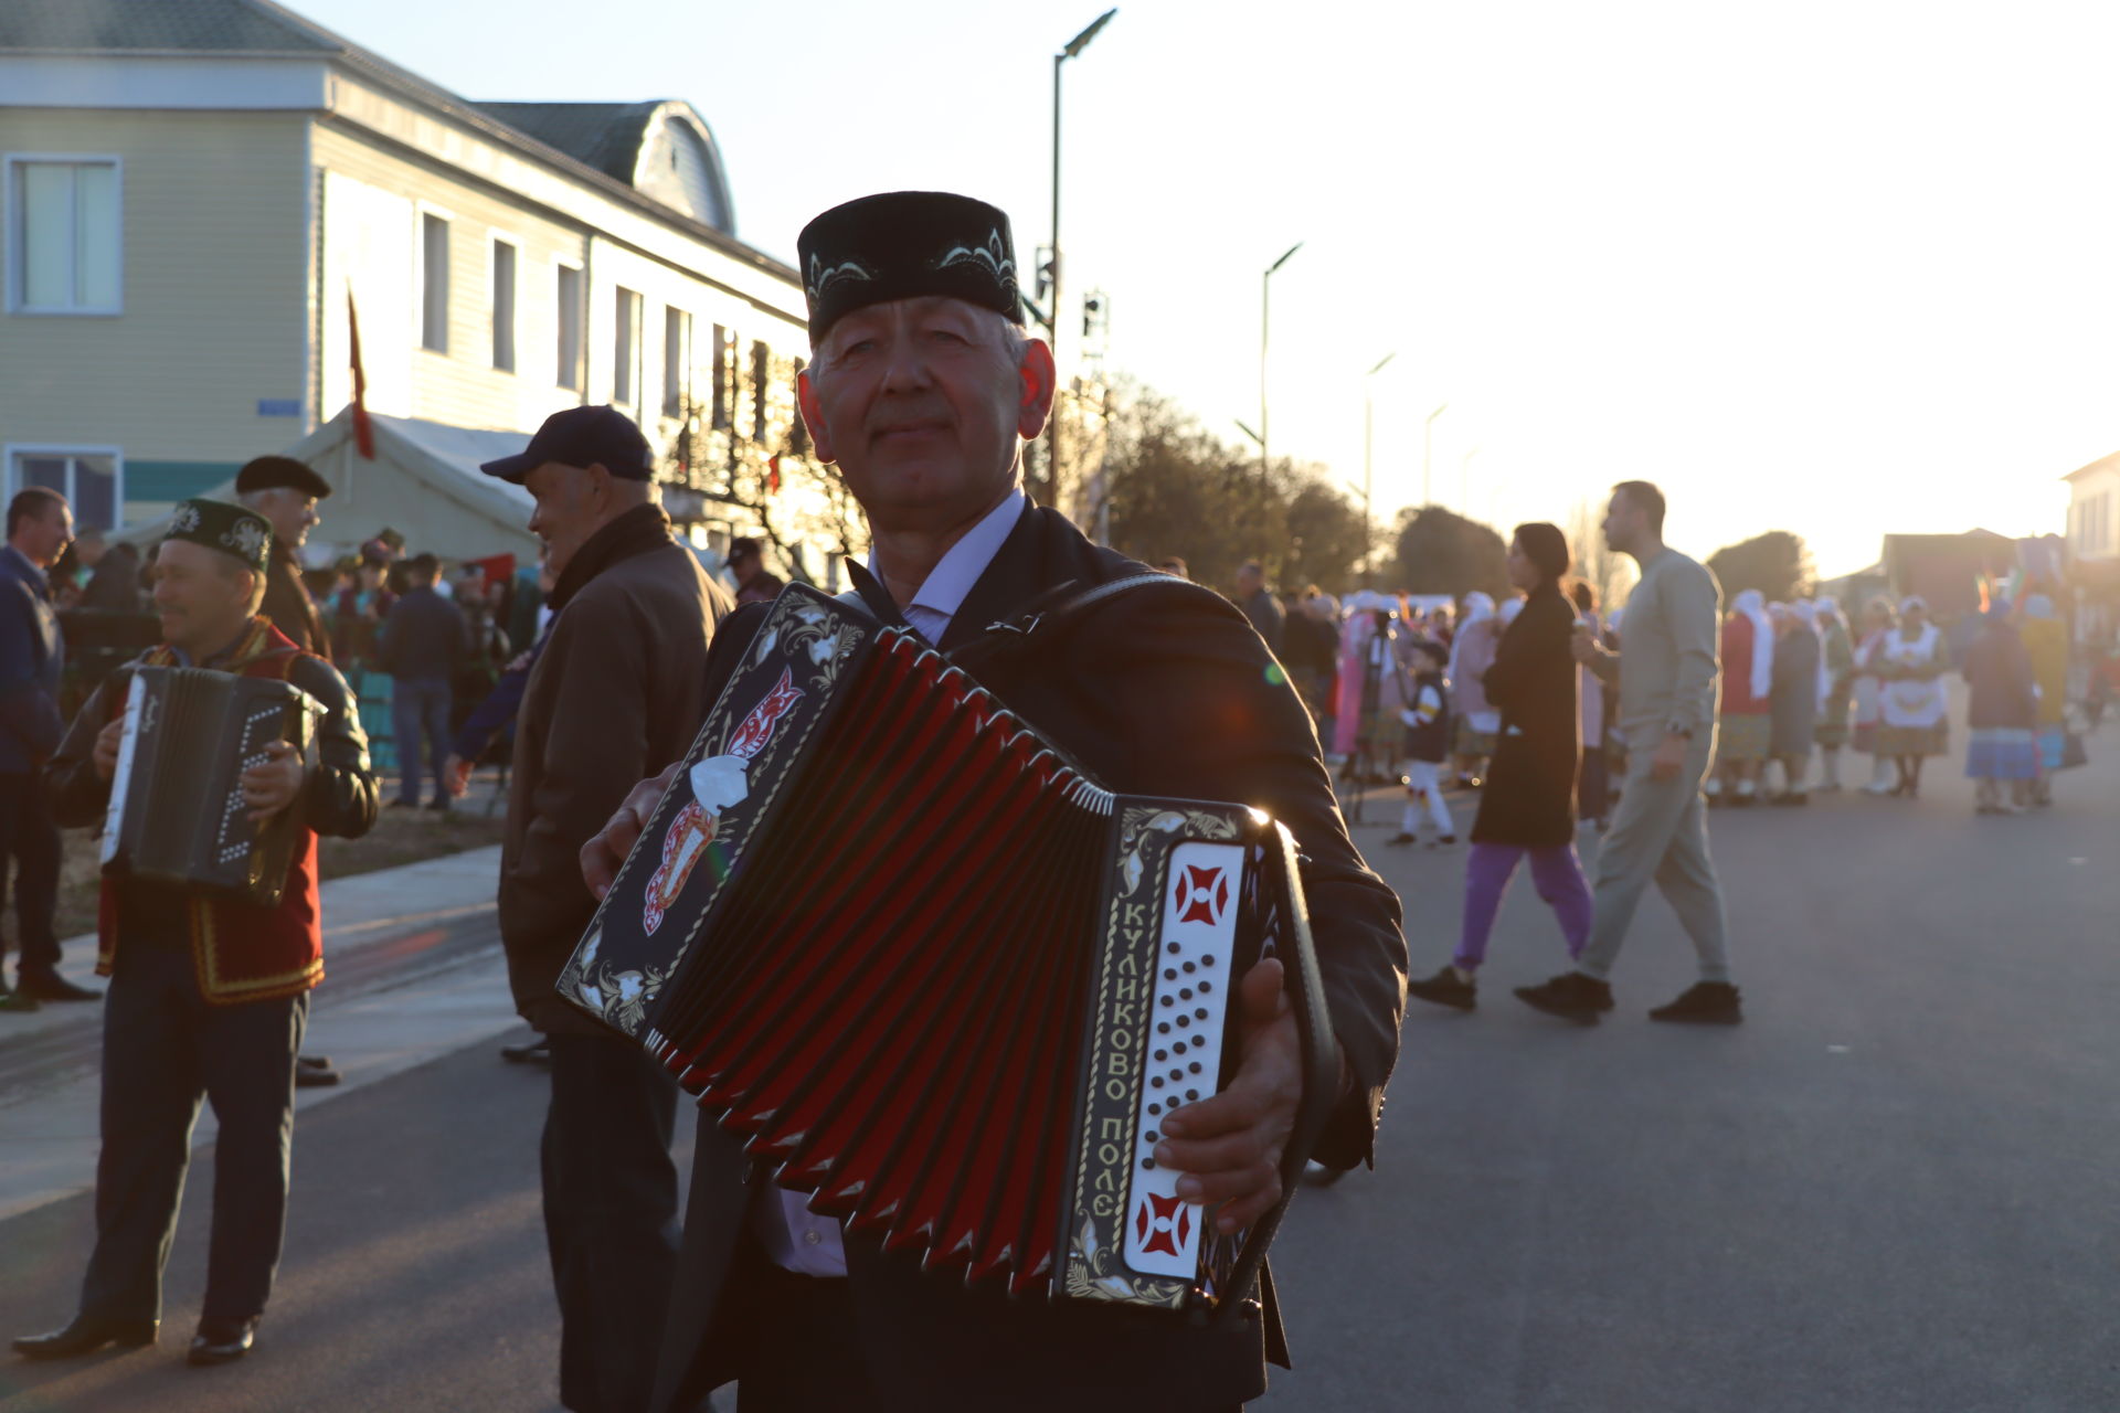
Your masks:
M856 672L812 744L829 767L774 805L803 839L757 841L717 922L736 945L657 1030L700 1038L670 1068L814 1210L1030 1288L1058 1237L1109 797L903 636Z

